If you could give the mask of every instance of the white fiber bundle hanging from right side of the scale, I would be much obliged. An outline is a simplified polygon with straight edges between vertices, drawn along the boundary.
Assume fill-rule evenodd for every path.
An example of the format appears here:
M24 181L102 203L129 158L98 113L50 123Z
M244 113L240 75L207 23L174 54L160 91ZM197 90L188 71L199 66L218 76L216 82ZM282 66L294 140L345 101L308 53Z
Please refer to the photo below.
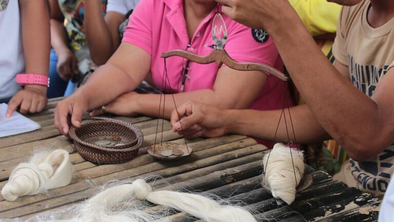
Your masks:
M304 175L304 155L302 151L277 143L269 154L268 162L267 159L268 154L263 158L263 164L266 164L263 186L272 192L273 197L282 199L290 205L295 199L296 188Z

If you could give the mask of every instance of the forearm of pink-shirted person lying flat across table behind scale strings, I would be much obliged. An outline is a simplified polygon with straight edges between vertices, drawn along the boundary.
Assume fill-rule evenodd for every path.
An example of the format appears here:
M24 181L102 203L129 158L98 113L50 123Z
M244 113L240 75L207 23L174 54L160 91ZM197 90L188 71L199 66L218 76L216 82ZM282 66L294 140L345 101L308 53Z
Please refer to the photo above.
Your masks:
M227 101L227 100L231 100L231 98L225 98L211 89L202 89L202 90L190 91L187 93L173 94L173 96L175 99L176 107L181 106L187 101L200 102L220 108L235 108L234 105L238 106L238 104L234 104L231 101ZM162 98L160 97L161 95L153 95L153 94L138 95L135 101L138 107L137 113L146 116L157 117L157 114L159 113L159 104L161 104L160 116L163 116L163 107L164 107L164 118L169 119L171 117L172 110L175 109L172 95L165 95L165 101L164 101L164 96L162 96ZM240 104L240 105L241 106L238 106L239 108L248 108L247 104Z

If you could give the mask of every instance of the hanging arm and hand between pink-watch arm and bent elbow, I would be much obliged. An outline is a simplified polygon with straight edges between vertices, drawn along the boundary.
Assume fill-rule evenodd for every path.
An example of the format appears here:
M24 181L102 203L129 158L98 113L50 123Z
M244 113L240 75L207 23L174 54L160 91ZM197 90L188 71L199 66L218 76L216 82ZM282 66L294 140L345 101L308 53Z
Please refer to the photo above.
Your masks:
M64 28L64 16L58 1L49 0L49 4L51 8L51 45L58 57L57 72L63 80L68 81L73 75L79 73L78 61L74 53L68 47L67 32Z

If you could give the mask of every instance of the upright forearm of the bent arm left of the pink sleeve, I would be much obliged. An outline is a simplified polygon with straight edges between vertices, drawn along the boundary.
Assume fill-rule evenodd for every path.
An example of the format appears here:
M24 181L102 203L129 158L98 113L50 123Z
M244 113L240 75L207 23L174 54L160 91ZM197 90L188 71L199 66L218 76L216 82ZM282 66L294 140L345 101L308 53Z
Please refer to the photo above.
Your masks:
M100 0L85 2L85 34L92 60L99 65L105 64L115 48L112 36L105 22Z

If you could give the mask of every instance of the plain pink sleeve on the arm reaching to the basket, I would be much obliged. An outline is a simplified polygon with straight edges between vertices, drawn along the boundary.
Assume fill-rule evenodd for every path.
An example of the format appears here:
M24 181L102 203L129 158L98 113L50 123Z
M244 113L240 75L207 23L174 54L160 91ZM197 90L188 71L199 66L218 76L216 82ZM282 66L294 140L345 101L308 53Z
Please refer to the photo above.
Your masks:
M135 7L122 40L144 49L149 54L152 54L153 1L155 0L141 0Z

